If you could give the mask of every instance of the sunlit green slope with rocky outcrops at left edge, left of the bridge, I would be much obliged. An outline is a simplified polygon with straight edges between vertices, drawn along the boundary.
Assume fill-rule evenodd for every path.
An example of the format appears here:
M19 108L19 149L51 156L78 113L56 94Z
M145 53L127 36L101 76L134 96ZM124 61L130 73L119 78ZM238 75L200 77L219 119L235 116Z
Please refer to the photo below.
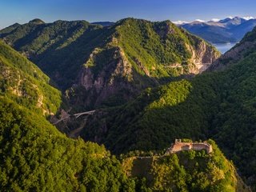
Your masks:
M50 78L2 41L0 95L43 114L54 114L61 105L61 93L50 86Z

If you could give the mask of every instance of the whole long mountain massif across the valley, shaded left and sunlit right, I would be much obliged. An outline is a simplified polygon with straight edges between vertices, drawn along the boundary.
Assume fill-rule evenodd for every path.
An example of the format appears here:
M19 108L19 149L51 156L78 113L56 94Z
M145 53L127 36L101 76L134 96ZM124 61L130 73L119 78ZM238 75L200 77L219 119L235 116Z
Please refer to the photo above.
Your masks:
M76 110L123 104L146 87L198 74L220 56L170 21L126 18L103 27L36 20L6 30L0 38L48 74Z

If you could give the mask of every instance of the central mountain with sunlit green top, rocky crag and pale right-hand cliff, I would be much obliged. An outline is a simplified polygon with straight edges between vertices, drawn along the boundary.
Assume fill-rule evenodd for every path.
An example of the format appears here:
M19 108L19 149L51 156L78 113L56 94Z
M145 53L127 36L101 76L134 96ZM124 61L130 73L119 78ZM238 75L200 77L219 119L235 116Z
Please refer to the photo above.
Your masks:
M78 100L86 105L121 104L162 79L199 74L220 56L214 46L168 21L130 18L113 28L110 41L92 50L73 86L80 92L82 87Z

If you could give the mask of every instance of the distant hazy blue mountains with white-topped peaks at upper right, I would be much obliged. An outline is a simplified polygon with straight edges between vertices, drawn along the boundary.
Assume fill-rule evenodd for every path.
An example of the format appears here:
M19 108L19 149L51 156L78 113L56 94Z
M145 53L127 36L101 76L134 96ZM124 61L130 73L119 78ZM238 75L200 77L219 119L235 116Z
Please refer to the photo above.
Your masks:
M246 20L235 17L225 18L218 22L190 22L179 26L211 43L239 42L256 26L256 19Z

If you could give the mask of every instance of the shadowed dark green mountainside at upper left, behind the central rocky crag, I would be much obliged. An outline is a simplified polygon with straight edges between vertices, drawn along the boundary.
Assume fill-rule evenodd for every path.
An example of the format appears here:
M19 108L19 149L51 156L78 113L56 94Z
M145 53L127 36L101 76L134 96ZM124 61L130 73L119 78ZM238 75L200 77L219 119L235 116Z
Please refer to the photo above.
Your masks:
M85 21L57 21L47 24L34 19L18 26L12 33L5 34L5 30L1 31L0 37L15 50L26 54L30 60L50 75L58 86L67 87L74 83L74 78L78 74L78 63L81 62L81 65L85 60L86 55L82 57L82 54L92 49L86 46L86 42L81 42L84 45L80 52L78 50L81 49L81 44L75 45L76 50L74 47L71 50L68 46L84 33L87 33L87 38L93 39L98 35L98 28L101 27L90 25ZM95 30L95 35L91 36L91 30Z

